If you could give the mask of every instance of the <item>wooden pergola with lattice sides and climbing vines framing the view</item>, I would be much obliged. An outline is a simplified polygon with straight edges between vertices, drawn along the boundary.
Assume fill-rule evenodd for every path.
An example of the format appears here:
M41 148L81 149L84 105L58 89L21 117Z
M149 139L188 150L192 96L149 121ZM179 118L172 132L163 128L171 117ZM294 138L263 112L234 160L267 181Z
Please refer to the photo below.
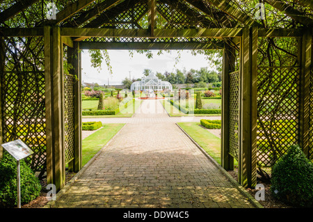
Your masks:
M65 185L66 164L81 169L81 49L223 49L223 168L236 159L239 183L255 187L257 167L271 166L287 143L312 158L312 1L263 1L291 28L265 26L254 18L258 8L245 11L238 1L56 0L48 20L50 2L0 0L0 143L29 144L29 164L48 184ZM294 39L293 65L259 59L260 40L275 38Z

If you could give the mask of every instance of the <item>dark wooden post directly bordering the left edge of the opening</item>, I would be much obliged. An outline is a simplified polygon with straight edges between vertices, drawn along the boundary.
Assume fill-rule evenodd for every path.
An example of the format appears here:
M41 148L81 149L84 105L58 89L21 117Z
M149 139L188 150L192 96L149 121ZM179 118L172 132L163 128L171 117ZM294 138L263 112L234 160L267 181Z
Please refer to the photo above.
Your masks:
M71 74L74 74L74 159L69 164L69 170L78 172L82 167L81 159L81 51L79 42L73 42L73 48L68 47L68 63L72 64Z

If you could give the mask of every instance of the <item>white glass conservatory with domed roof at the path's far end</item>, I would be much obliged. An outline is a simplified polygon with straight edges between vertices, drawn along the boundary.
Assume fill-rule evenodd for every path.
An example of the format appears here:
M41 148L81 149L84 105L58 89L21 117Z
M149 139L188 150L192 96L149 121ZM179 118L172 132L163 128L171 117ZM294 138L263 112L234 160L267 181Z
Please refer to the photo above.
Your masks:
M172 90L172 84L168 81L161 81L155 74L151 73L147 77L143 77L141 81L135 81L131 84L131 90Z

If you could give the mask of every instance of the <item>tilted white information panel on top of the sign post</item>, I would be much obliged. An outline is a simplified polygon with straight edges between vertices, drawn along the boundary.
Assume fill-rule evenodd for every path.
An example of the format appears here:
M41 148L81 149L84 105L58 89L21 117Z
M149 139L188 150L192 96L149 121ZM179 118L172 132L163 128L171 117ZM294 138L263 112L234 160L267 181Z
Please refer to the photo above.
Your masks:
M29 155L33 154L33 150L31 150L25 143L23 143L20 139L16 141L11 141L8 143L1 144L2 147L8 151L16 160L24 159Z

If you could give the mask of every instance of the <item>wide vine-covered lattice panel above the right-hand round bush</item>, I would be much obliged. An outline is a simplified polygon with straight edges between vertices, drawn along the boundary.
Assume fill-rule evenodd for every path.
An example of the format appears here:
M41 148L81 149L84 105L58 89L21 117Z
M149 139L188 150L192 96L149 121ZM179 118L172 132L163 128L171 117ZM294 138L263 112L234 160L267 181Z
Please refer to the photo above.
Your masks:
M269 167L298 142L300 68L259 67L257 74L257 161Z

